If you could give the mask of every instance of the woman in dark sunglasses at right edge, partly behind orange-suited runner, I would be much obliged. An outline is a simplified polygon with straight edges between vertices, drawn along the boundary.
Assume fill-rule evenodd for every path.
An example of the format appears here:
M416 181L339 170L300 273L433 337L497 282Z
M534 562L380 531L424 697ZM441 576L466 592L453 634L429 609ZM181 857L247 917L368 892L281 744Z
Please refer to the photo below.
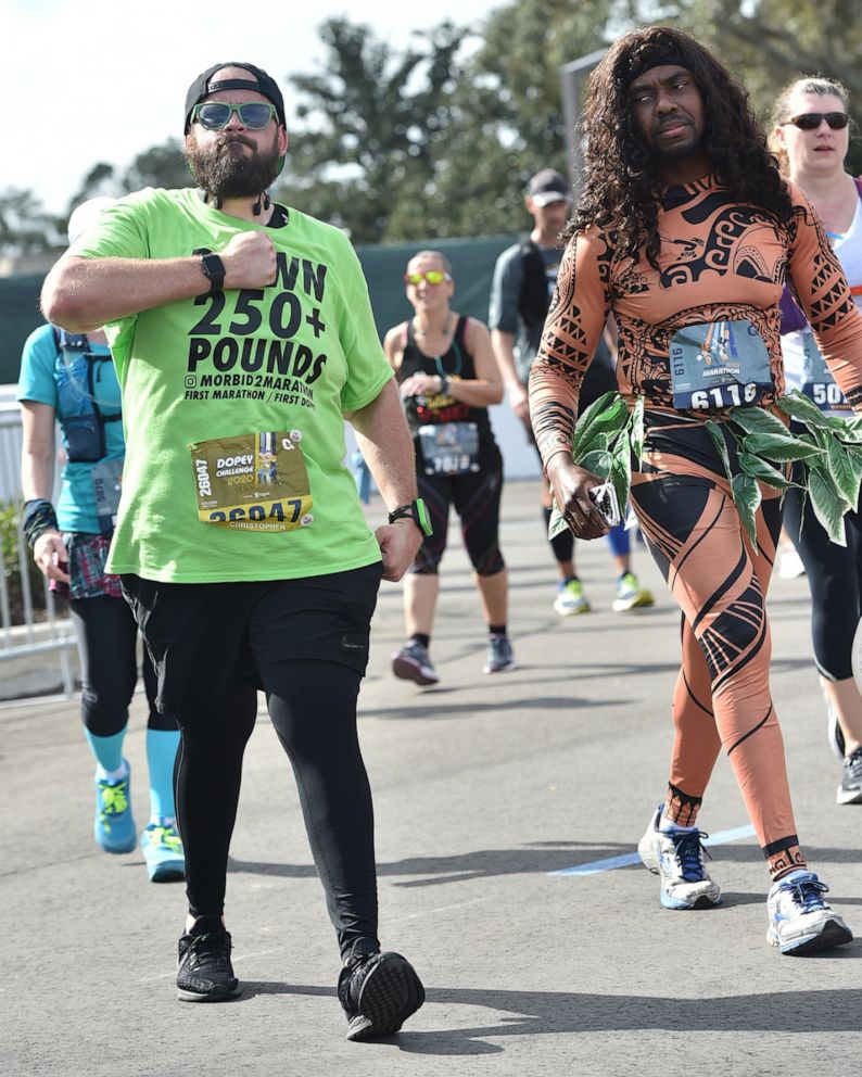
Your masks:
M808 195L841 262L851 291L862 296L862 183L845 168L849 143L848 94L840 83L799 78L775 103L773 149L782 170ZM782 352L787 388L801 389L826 414L850 416L844 394L817 351L790 293L782 301ZM802 491L785 497L785 524L806 568L812 598L814 661L820 673L829 739L844 757L839 804L862 802L862 695L851 668L853 634L862 614L862 517L845 517L847 546L829 542L804 504Z

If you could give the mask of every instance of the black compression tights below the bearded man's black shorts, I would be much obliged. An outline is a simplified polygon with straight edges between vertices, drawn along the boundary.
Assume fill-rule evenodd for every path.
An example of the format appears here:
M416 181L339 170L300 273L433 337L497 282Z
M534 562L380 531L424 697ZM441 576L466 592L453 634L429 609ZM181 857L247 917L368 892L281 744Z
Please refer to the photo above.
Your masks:
M359 674L334 662L279 662L259 671L278 738L290 757L305 826L342 955L377 940L371 791L356 734ZM180 715L177 818L192 915L220 915L242 755L254 727L254 689Z

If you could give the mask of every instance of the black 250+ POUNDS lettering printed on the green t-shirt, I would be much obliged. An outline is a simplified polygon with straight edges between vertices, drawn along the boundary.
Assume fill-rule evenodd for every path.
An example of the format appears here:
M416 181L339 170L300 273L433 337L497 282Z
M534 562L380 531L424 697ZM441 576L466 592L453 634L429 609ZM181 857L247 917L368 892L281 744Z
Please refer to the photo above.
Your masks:
M194 301L202 315L189 330L186 400L255 400L314 408L312 387L327 364L327 267L283 251L276 254L276 279L267 288Z

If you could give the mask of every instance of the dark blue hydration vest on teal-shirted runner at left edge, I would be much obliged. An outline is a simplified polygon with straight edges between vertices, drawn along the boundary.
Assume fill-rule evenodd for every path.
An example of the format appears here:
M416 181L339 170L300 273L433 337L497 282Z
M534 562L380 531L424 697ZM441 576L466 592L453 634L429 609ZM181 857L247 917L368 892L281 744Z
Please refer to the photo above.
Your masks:
M94 371L110 355L93 355L83 333L54 327L58 421L66 457L72 464L94 464L107 455L105 423L118 422L122 413L103 415L96 401Z

